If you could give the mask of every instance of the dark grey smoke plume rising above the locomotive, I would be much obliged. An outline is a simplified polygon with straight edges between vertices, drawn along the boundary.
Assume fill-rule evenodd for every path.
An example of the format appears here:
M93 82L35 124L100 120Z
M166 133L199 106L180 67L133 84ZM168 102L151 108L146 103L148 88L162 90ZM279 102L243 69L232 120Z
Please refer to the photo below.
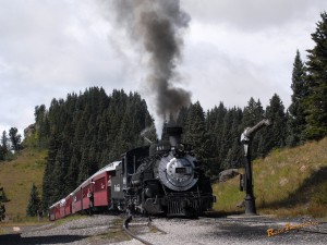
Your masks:
M182 34L190 16L179 0L112 0L117 23L124 26L132 40L148 56L146 85L154 93L156 112L161 119L177 117L191 102L191 94L174 86L181 59Z

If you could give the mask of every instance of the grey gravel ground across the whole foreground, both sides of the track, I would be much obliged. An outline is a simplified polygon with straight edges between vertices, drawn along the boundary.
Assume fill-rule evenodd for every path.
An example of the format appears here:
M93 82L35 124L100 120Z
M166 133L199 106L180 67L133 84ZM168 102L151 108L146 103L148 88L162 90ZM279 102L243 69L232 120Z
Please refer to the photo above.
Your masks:
M142 238L158 245L326 245L327 223L317 224L313 220L277 220L265 217L230 217L184 219L154 219L154 224L162 229L160 232L145 233ZM69 245L140 245L138 241L130 240L121 231L122 219L118 216L93 216L70 221L59 226L47 224L33 228L31 231L0 235L1 245L21 244L69 244ZM304 231L294 228L304 226ZM290 231L287 231L289 228ZM293 228L293 229L291 229ZM279 234L267 236L267 230ZM307 232L311 231L311 232ZM324 233L313 233L324 232ZM270 234L272 234L270 233Z

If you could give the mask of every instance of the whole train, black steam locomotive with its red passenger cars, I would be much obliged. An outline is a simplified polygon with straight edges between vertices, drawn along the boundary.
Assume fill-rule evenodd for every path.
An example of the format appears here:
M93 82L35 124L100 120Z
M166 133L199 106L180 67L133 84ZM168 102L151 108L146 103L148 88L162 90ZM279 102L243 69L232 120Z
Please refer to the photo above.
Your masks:
M49 208L50 220L101 209L168 217L196 217L213 208L210 181L193 149L181 143L182 127L166 125L157 144L132 149Z

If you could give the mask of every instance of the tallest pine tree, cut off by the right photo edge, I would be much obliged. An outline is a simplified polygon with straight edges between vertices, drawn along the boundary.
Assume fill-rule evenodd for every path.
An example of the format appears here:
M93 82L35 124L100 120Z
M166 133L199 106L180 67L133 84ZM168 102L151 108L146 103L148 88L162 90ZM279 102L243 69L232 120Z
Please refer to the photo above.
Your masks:
M307 50L308 95L305 98L306 108L306 138L320 139L327 135L327 13L320 14L312 39L316 46Z

